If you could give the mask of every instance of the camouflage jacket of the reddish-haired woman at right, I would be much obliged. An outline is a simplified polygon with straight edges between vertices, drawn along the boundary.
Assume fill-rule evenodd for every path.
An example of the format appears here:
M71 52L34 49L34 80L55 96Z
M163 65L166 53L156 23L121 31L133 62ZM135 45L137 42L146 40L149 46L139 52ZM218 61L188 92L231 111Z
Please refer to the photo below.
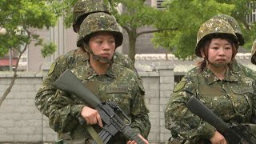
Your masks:
M225 122L249 123L256 110L254 88L253 79L232 70L227 70L225 78L219 80L209 69L199 72L196 67L182 78L171 94L165 113L166 129L176 131L190 143L213 136L215 128L186 108L191 96Z

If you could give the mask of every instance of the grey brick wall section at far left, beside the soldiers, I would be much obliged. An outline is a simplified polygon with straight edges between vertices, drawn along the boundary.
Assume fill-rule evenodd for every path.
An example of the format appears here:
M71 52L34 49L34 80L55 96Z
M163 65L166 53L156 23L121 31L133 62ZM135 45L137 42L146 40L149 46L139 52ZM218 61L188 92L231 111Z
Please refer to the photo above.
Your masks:
M9 86L13 73L0 74L0 95ZM18 74L10 94L0 107L0 142L42 141L42 114L34 106L34 95L42 74Z

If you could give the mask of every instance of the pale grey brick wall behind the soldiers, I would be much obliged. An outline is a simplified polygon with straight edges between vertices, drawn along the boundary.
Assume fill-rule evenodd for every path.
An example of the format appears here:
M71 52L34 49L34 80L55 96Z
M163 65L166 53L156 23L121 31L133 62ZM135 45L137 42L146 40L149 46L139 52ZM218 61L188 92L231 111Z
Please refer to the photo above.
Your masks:
M174 87L174 69L162 62L153 72L141 72L146 90L146 105L150 110L150 143L164 143L170 132L164 127L166 102ZM42 82L43 73L20 73L13 89L0 107L0 143L54 142L57 134L48 120L34 106L34 96ZM12 73L0 73L0 96L11 81Z

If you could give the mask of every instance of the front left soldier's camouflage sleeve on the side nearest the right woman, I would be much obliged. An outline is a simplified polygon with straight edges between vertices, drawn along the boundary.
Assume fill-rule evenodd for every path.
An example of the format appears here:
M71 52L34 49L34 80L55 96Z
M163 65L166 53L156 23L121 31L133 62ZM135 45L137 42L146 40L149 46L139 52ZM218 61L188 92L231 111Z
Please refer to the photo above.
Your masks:
M146 107L145 103L145 91L142 89L142 82L138 80L138 91L132 101L131 106L131 127L138 134L142 134L143 138L147 138L150 133L150 118L149 110Z

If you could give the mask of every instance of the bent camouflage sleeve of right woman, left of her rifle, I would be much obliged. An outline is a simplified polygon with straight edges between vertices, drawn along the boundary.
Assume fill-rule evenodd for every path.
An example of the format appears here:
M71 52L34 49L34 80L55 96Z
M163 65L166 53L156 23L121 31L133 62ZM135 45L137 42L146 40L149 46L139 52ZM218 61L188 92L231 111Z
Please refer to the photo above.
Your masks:
M167 102L165 126L190 142L197 142L199 138L210 139L215 129L186 108L186 102L193 95L195 96L194 84L185 76L175 86Z

